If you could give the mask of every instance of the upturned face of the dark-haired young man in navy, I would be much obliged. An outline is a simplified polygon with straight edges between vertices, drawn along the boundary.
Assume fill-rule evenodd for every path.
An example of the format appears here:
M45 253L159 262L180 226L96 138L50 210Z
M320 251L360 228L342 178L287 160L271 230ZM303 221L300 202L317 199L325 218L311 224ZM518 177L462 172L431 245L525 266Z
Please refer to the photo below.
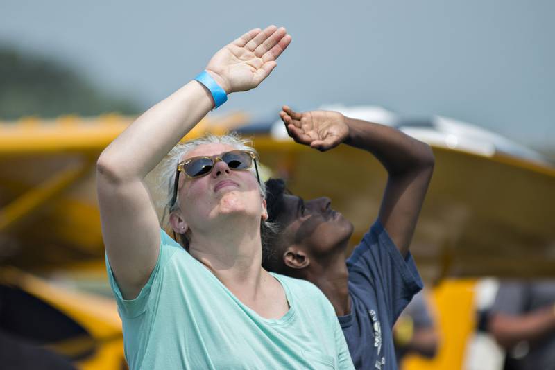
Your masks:
M352 224L332 209L330 198L305 201L296 195L284 194L283 200L282 240L286 245L297 245L310 256L318 256L342 247L350 238Z

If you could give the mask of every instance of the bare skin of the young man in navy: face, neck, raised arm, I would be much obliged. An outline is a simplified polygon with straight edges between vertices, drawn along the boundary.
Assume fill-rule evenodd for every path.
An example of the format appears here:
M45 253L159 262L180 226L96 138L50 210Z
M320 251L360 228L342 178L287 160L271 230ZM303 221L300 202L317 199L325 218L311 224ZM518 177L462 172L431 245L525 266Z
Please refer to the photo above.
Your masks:
M382 163L388 182L378 217L399 252L407 256L434 168L429 146L391 127L339 112L298 113L284 106L280 117L297 143L321 151L343 143L370 152ZM347 315L350 297L345 249L352 224L342 215L327 216L331 206L327 198L304 201L305 211L300 214L296 204L302 198L285 197L284 273L311 281L332 302L336 315Z

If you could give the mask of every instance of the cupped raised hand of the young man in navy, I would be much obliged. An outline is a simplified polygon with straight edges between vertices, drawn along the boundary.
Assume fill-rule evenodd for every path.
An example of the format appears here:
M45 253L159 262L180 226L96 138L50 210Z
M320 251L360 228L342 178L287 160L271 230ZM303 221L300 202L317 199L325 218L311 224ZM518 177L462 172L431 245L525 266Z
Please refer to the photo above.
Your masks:
M317 110L298 113L284 105L280 112L287 133L297 143L324 152L339 146L349 134L345 117L339 112Z

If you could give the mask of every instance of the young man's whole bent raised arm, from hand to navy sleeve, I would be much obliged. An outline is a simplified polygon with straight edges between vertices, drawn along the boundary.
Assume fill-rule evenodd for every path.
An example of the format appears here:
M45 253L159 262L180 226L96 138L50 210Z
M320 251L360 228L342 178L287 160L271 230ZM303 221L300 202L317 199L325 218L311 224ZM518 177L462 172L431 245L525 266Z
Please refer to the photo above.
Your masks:
M280 116L296 142L321 151L345 143L371 152L386 168L388 182L379 220L403 256L407 255L418 214L434 170L429 146L399 130L359 121L339 112L294 112Z

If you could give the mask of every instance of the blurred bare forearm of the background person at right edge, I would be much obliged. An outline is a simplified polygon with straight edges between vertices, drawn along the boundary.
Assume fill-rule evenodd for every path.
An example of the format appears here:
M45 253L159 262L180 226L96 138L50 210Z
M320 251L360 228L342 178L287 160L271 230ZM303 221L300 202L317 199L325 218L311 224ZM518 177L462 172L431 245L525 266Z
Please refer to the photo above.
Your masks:
M521 341L555 336L555 305L520 315L495 312L490 317L489 331L506 350Z

